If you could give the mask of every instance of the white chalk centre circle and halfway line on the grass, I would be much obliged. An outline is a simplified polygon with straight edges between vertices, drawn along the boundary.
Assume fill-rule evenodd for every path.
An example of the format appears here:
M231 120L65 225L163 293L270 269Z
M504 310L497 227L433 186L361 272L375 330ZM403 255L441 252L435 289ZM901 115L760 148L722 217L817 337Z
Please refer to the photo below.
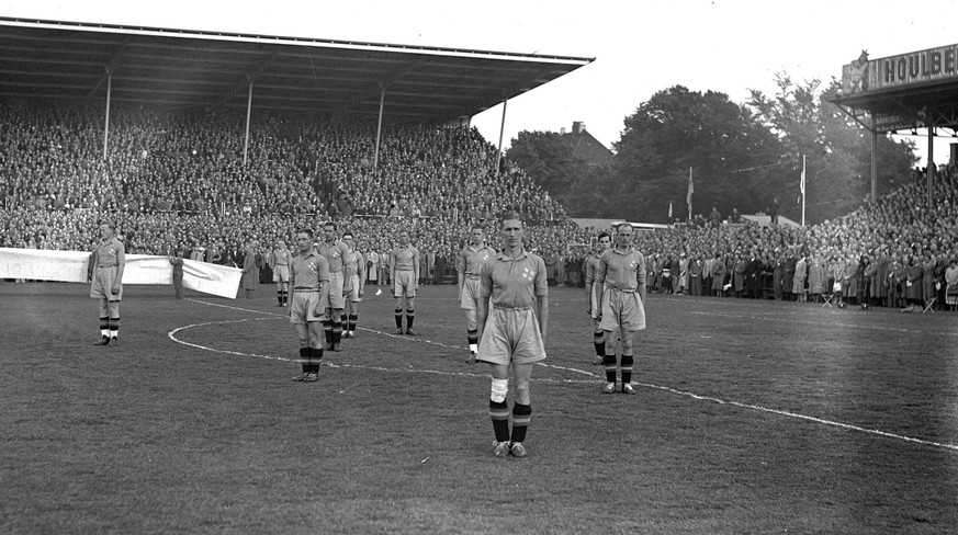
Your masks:
M243 310L243 311L248 311L248 312L253 312L253 314L268 314L268 315L271 315L271 316L283 316L283 315L272 314L272 312L262 312L262 311L260 311L260 310L251 310L251 309L245 309L245 308L239 308L239 307L230 307L230 306L227 306L227 305L219 305L219 304L214 304L214 303L206 303L206 301L196 300L196 299L190 299L190 300L194 300L195 303L201 303L201 304L204 304L204 305L213 305L213 306L218 306L218 307L223 307L223 308L229 308L229 309L234 309L234 310ZM692 312L692 314L707 314L707 312ZM723 316L728 316L728 315L723 315ZM262 317L260 317L260 318L246 318L246 319L238 319L238 320L208 321L208 322L205 322L205 323L194 323L194 325L184 326L184 327L180 327L180 328L173 329L173 330L171 330L171 331L168 333L168 335L169 335L170 340L172 340L172 341L174 341L174 342L177 342L177 343L181 343L181 344L183 344L183 345L189 345L189 346L191 346L191 348L201 349L201 350L204 350L204 351L212 351L212 352L214 352L214 353L225 353L225 354L239 355L239 356L252 356L252 357L257 357L257 358L266 358L266 360L270 360L270 361L294 362L293 358L286 358L286 357L282 357L282 356L258 355L258 354L253 354L253 353L243 353L243 352L238 352L238 351L228 351L228 350L218 350L218 349L215 349L215 348L207 348L207 346L205 346L205 345L200 345L200 344L194 344L194 343L185 342L185 341L179 340L179 339L177 339L177 338L174 337L174 334L176 334L177 332L182 331L182 330L185 330L185 329L190 329L190 328L193 328L193 327L204 327L204 326L208 326L208 325L239 323L239 322L244 322L244 321L259 321L259 320L264 320L264 319L273 319L273 318L262 318ZM853 326L853 327L864 327L864 326ZM410 339L410 338L393 335L393 334L388 334L388 333L385 333L385 332L380 332L380 331L375 331L375 330L371 330L371 329L363 329L363 330L365 330L365 331L370 331L370 332L375 332L375 333L383 334L383 335L386 335L386 337L392 337L392 338L402 338L402 339L404 339L404 340L408 340L408 341L416 341L416 342L422 342L422 343L431 343L431 344L433 344L433 345L439 345L439 346L443 346L443 348L452 348L452 349L455 349L455 350L459 350L459 349L460 349L460 348L455 348L455 346L448 345L448 344L440 343L440 342L433 342L433 341L431 341L431 340L426 340L426 339ZM555 366L555 365L552 365L552 364L544 364L544 363L539 363L539 364L542 365L542 366L545 366L545 367L552 367L552 368L555 368L555 369L564 371L564 372L574 372L574 373L584 374L584 375L587 375L587 376L590 376L590 377L597 377L595 374L593 374L593 373L590 373L590 372L583 371L583 369L576 369L576 368L564 367L564 366ZM414 368L414 369L397 369L397 368L387 368L387 367L383 367L383 366L369 366L369 365L362 365L362 364L333 364L333 363L326 363L326 362L324 362L323 365L324 365L324 366L334 367L334 368L357 368L357 369L369 369L369 371L376 371L376 372L421 373L421 374L443 375L443 376L453 376L453 377L478 377L478 378L482 378L482 377L488 377L488 376L489 376L488 374L474 374L474 373L462 373L462 372L441 372L441 371L438 371L438 369L415 369L415 368ZM585 380L585 379L578 379L578 380L576 380L576 379L553 379L553 378L548 378L548 377L536 378L536 379L533 379L533 380L536 380L537 383L557 383L557 384L594 384L594 383L596 383L596 380ZM754 411L759 411L759 412L766 412L766 413L777 414L777 416L787 417L787 418L796 418L796 419L799 419L799 420L805 420L805 421L809 421L809 422L820 423L820 424L822 424L822 425L830 425L830 426L833 426L833 428L839 428L839 429L845 429L845 430L849 430L849 431L857 431L857 432L860 432L860 433L872 434L872 435L876 435L876 436L882 436L882 437L886 437L886 439L893 439L893 440L899 440L899 441L903 441L903 442L911 442L911 443L914 443L914 444L921 444L921 445L924 445L924 446L940 447L940 448L944 448L944 449L949 449L949 451L953 451L953 452L958 452L958 445L956 445L956 444L943 444L943 443L940 443L940 442L926 441L926 440L923 440L923 439L915 439L915 437L913 437L913 436L906 436L906 435L900 435L900 434L895 434L895 433L889 433L889 432L887 432L887 431L881 431L881 430L877 430L877 429L861 428L861 426L859 426L859 425L853 425L853 424L850 424L850 423L842 423L842 422L836 422L836 421L834 421L834 420L826 420L826 419L823 419L823 418L810 417L810 416L807 416L807 414L799 414L798 412L791 412L791 411L787 411L787 410L770 409L770 408L768 408L768 407L762 407L762 406L758 406L758 405L752 405L752 403L744 403L744 402L741 402L741 401L726 401L726 400L724 400L724 399L715 398L715 397L712 397L712 396L705 396L705 395L695 394L695 392L690 392L690 391L677 390L677 389L675 389L675 388L670 388L670 387L667 387L667 386L652 385L652 384L649 384L649 383L636 383L636 382L633 382L632 384L635 385L635 386L641 386L641 387L644 387L644 388L650 388L650 389L655 389L655 390L663 390L663 391L667 391L667 392L670 392L670 394L675 394L675 395L677 395L677 396L683 396L683 397L687 397L687 398L691 398L691 399L697 399L697 400L701 400L701 401L711 401L711 402L719 403L719 405L729 405L729 406L732 406L732 407L739 407L739 408L742 408L742 409L748 409L748 410L754 410ZM351 388L351 387L347 387L347 389L348 389L348 388ZM343 389L342 391L346 391L346 389ZM340 394L341 394L341 392L340 392Z

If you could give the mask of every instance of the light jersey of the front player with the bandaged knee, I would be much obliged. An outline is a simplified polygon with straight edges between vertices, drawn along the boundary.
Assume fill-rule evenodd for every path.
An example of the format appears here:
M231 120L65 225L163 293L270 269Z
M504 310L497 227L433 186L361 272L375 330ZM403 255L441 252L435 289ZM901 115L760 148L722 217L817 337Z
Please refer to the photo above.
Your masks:
M501 252L491 258L483 264L481 280L480 298L492 296L496 307L527 308L549 295L545 262L526 250L515 260Z

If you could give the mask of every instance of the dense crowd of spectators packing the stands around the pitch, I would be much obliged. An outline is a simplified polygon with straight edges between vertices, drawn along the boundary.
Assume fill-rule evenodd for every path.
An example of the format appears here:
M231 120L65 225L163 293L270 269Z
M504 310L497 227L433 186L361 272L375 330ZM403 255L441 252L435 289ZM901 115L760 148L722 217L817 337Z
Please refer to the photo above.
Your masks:
M120 109L104 159L101 110L0 105L0 247L90 250L98 223L112 219L132 253L232 264L252 247L266 268L278 240L337 220L383 258L410 231L424 282L442 283L454 281L470 227L486 227L495 246L495 217L509 207L526 217L526 242L550 278L582 283L583 244L597 230L577 227L508 161L497 172L495 147L475 129L386 126L376 153L372 123L253 116L248 146L244 128L230 113ZM713 213L641 232L636 244L655 292L837 293L842 304L924 310L948 301L956 203L958 170L943 166L932 204L920 180L807 228L724 224Z

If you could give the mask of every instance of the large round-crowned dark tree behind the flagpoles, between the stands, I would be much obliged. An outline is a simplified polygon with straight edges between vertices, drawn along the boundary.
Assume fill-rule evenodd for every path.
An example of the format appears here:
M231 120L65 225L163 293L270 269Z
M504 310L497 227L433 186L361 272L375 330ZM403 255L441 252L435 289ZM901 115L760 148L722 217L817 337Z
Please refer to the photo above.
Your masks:
M684 217L688 172L695 177L694 212L762 209L764 183L778 174L780 146L753 114L724 93L675 86L655 93L625 117L616 144L616 198L622 216L667 220L669 202Z

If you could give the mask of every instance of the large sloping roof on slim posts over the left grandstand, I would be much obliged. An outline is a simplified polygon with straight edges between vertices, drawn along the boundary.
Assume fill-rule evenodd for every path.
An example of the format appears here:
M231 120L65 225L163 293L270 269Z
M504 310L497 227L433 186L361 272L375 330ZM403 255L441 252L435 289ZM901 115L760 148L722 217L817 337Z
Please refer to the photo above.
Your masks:
M595 58L0 18L0 101L469 118Z

